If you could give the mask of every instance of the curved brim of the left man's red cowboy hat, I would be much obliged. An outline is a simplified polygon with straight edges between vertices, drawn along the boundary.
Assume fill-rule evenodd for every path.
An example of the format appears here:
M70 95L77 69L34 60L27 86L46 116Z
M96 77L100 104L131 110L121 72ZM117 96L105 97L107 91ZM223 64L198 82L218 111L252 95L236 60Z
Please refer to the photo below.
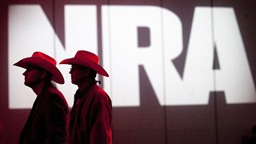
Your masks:
M29 65L38 66L44 70L49 71L50 74L53 74L52 81L57 82L59 84L64 84L64 78L62 76L62 73L58 70L58 68L54 66L52 63L47 62L42 58L23 58L22 60L14 63L14 66L19 66L24 69L26 69Z

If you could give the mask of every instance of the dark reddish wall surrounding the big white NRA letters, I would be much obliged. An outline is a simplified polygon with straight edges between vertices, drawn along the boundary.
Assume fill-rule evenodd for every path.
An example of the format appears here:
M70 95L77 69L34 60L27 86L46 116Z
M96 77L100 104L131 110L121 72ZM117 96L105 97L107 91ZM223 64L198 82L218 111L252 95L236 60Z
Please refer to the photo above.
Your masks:
M26 122L30 110L10 110L8 106L8 6L12 4L41 4L44 12L54 26L55 32L64 41L64 5L92 4L161 6L173 11L182 21L183 51L175 60L178 70L186 61L190 28L195 6L233 7L251 74L256 82L256 2L255 0L106 0L106 1L29 1L2 0L0 2L0 119L3 142L18 142L19 133ZM100 15L98 15L100 17ZM98 46L102 51L100 18L98 18ZM29 41L29 40L28 40ZM208 105L161 106L143 66L139 67L140 98L138 107L114 107L114 143L242 143L256 125L256 104L226 104L224 92L210 93ZM256 97L256 96L255 96Z

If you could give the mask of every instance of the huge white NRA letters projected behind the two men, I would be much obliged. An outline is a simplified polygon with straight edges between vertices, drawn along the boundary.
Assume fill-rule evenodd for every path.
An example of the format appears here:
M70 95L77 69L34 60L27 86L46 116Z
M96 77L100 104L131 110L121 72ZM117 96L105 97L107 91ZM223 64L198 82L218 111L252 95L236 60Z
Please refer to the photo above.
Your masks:
M85 48L98 53L97 10L65 6L65 48L39 5L9 6L9 106L30 108L34 94L23 86L21 69L12 65L41 50L58 62ZM182 77L172 60L183 50L182 22L158 6L102 6L102 63L110 74L104 89L113 106L140 106L138 67L143 66L162 106L206 105L210 91L224 91L226 102L255 102L255 86L238 22L231 7L196 7ZM138 27L150 44L138 46ZM213 69L214 50L218 70ZM58 88L72 106L77 89L68 66L58 66L66 83ZM30 97L30 98L29 98Z

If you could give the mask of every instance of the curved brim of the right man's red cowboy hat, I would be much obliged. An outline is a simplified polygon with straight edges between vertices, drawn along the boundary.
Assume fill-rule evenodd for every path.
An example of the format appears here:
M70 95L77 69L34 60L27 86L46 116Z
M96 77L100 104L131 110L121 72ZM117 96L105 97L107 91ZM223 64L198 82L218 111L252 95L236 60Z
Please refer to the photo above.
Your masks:
M95 70L98 74L109 77L109 74L107 74L106 70L104 70L102 68L102 66L100 66L100 65L98 65L98 63L95 63L95 62L90 61L90 60L84 60L82 58L68 58L68 59L64 59L59 64L86 66L86 67L89 67L92 70Z

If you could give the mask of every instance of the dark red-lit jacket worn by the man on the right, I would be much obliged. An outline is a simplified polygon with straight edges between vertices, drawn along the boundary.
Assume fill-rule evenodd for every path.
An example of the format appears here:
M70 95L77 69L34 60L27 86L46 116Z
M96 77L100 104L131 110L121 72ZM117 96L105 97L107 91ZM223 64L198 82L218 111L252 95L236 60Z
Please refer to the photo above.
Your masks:
M69 143L111 144L112 104L106 92L94 84L83 92L77 90L74 97Z

